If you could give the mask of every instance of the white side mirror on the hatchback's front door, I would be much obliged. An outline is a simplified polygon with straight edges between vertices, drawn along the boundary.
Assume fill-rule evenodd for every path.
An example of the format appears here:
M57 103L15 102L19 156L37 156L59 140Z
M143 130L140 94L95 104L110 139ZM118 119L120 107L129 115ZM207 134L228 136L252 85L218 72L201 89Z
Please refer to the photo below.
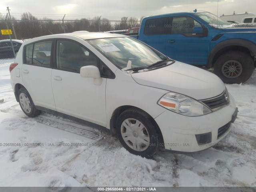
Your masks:
M83 66L80 68L80 76L84 78L94 78L94 84L101 85L102 78L100 77L100 70L93 65Z

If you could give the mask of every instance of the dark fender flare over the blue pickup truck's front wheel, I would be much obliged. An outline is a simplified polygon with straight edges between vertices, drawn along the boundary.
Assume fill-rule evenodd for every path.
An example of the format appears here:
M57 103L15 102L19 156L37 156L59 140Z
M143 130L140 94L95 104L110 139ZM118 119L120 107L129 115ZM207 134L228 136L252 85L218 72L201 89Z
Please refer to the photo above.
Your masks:
M217 44L210 52L207 62L208 67L212 68L218 57L222 54L234 50L245 52L252 57L256 56L256 45L254 43L243 39L225 40ZM255 65L256 63L254 63Z

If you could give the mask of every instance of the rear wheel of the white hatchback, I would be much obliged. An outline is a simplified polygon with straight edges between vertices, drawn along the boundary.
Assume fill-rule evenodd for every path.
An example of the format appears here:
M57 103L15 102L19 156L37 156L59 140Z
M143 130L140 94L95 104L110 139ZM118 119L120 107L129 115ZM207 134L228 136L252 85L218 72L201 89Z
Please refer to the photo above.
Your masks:
M38 116L41 111L35 108L34 102L28 91L25 88L20 88L18 90L18 98L20 103L20 108L29 117Z

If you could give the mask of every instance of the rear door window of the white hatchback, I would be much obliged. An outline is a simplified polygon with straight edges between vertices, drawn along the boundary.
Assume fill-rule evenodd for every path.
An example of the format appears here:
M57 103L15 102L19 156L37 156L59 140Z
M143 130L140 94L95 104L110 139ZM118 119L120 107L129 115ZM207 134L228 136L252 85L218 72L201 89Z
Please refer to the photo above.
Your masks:
M26 64L50 67L52 40L36 42L26 46Z

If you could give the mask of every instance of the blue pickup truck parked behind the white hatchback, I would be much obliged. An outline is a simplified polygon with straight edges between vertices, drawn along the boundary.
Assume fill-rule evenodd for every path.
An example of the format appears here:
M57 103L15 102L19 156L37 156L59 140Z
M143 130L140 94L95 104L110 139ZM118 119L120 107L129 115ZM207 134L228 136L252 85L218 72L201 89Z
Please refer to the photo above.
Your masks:
M210 12L145 17L134 38L175 60L214 68L228 84L245 82L256 68L256 25L230 24Z

